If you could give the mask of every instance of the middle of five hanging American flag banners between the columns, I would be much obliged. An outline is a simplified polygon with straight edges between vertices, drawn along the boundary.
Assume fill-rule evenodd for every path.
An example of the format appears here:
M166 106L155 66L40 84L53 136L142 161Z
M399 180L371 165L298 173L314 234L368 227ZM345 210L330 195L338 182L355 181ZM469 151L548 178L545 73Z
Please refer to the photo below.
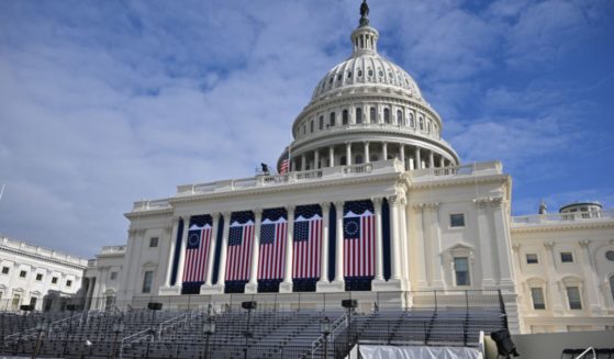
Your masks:
M287 216L286 209L263 211L258 280L283 279L288 238Z

